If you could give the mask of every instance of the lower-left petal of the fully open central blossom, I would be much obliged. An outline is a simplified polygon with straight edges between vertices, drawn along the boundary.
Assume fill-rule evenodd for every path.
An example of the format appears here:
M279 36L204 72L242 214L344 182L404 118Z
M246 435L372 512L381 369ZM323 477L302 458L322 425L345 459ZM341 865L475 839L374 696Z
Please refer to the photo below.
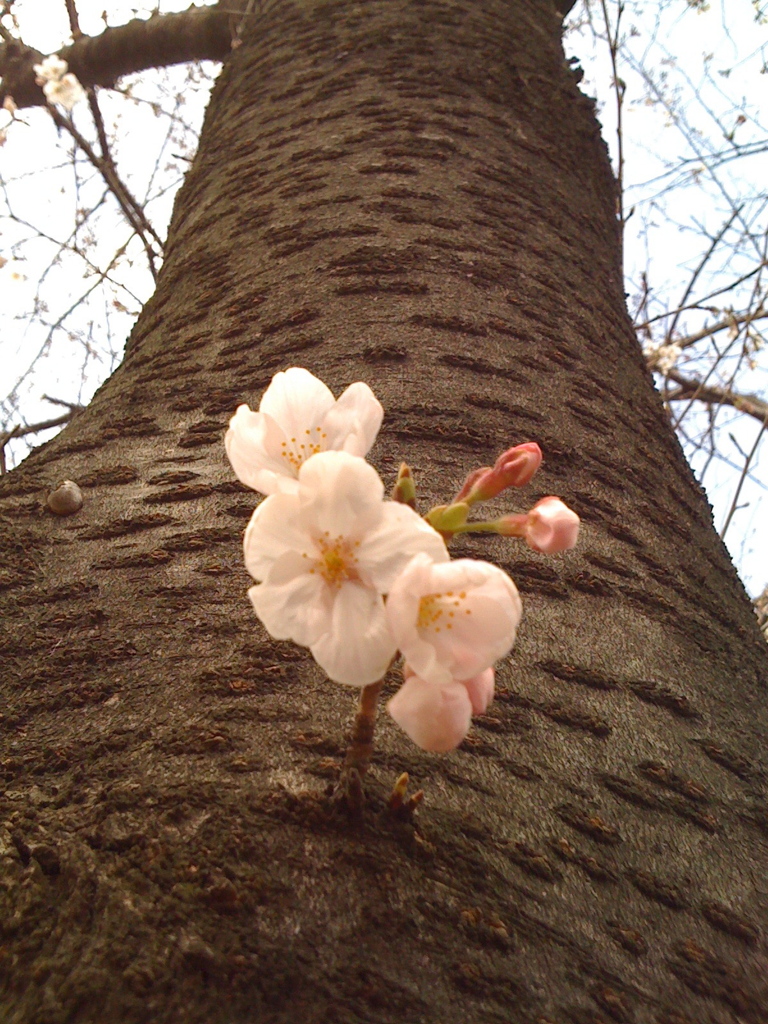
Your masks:
M309 647L332 622L331 591L321 575L306 571L306 562L292 551L278 559L264 583L251 587L248 596L275 640Z

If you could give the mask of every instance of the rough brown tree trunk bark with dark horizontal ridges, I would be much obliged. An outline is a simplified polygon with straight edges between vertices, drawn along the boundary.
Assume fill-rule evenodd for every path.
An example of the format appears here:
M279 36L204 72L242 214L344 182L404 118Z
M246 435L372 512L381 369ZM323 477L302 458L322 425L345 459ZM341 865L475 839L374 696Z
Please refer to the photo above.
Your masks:
M2 482L3 1020L765 1021L766 651L626 315L554 7L249 31L125 364ZM584 519L557 559L456 546L516 580L517 646L457 753L382 721L360 823L325 792L353 695L245 595L222 432L290 365L370 382L372 459L424 507L536 439L532 498Z

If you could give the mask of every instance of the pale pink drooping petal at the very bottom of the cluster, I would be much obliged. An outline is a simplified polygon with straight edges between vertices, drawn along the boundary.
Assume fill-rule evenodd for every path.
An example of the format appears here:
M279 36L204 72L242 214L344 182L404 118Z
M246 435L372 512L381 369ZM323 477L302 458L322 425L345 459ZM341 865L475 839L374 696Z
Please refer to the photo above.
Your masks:
M387 711L417 746L452 751L464 739L472 721L467 688L452 682L441 686L412 676L387 705Z

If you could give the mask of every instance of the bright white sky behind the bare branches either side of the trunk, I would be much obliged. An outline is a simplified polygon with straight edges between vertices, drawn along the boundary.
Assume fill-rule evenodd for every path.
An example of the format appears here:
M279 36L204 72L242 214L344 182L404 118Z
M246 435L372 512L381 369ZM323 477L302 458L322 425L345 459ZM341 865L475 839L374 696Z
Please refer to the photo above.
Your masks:
M104 6L109 6L110 25L127 22L137 13L146 16L151 10L135 0L110 0L108 5L104 0L78 0L81 28L86 34L102 31ZM164 12L187 6L187 0L160 3ZM590 6L593 22L599 27L600 4L592 0ZM679 303L690 270L707 246L701 231L712 234L720 228L731 197L739 197L738 202L744 204L743 224L737 222L732 232L734 243L738 241L737 229L743 237L744 225L752 230L762 226L765 231L766 155L761 152L748 157L743 153L750 145L758 147L768 140L760 110L762 104L765 113L768 91L768 27L756 24L751 0L713 0L707 12L690 9L687 0L631 0L626 8L625 59L618 74L627 84L625 209L628 212L634 207L626 234L628 301L632 311L640 273L645 271L651 288L649 311L658 314ZM69 39L63 0L47 0L45 9L46 17L41 18L39 0L16 0L14 5L25 41L42 52L54 52ZM615 0L610 0L609 9L614 15ZM575 20L584 19L581 4L573 15ZM583 30L568 35L566 48L586 71L582 88L599 98L604 137L615 157L615 100L607 47L595 44L592 33ZM644 80L638 71L641 68L650 73L651 81ZM115 125L114 154L121 173L134 195L147 202L147 212L162 234L185 167L184 158L194 146L194 131L202 118L209 82L198 69L179 68L125 84L131 84L128 99L100 93L104 121L108 130ZM180 105L174 98L177 95ZM659 97L668 101L672 114ZM683 110L677 116L674 106L680 100ZM158 104L173 117L159 114ZM74 120L84 134L93 136L84 104L76 108ZM0 112L0 128L7 121ZM731 140L726 137L730 132ZM150 155L148 161L136 160L137 140L141 155ZM719 166L713 176L707 166L718 153L729 158L738 155L739 159L722 164L715 160ZM682 171L671 172L684 160L688 162ZM82 160L75 170L67 138L58 136L44 111L22 112L22 120L10 126L6 142L0 146L0 201L5 203L5 210L0 206L0 256L8 261L0 268L0 399L24 377L38 352L44 352L45 357L18 383L20 415L7 403L0 406L0 423L5 420L12 425L22 417L36 422L58 415L60 409L41 400L46 393L87 401L118 364L134 315L152 293L152 276L141 247L135 239L128 243L130 231L115 215L114 204L108 201L100 206L73 234L77 211L97 202L102 191L100 178ZM9 208L31 226L11 220ZM36 238L37 230L54 241ZM69 248L62 248L61 243ZM127 249L111 266L116 250L126 243ZM84 252L89 262L73 249ZM698 294L718 287L714 282L722 282L723 274L736 276L753 268L755 260L749 245L741 254L724 250L701 274ZM59 327L51 329L74 300L97 282L94 267L111 267L111 283L93 292L87 307L65 316ZM34 308L38 317L30 323ZM679 333L698 330L713 315L685 314L678 324ZM679 369L691 369L686 368L685 357ZM768 360L758 356L756 370L745 383L739 382L740 389L765 397L767 373ZM734 422L729 425L731 420ZM695 433L700 422L691 420L689 429ZM749 450L760 426L728 411L718 414L718 423L722 423L718 443L726 462L716 461L707 468L705 484L715 507L716 524L722 527L741 465L735 445ZM38 436L35 442L41 439ZM26 451L26 444L16 442L13 457L23 458ZM768 456L760 450L757 464L753 463L757 478L762 475L768 480L766 460ZM735 469L729 469L728 463ZM694 467L701 472L702 457L694 459ZM745 507L735 514L727 543L748 588L757 593L768 582L765 484L748 480L740 504Z

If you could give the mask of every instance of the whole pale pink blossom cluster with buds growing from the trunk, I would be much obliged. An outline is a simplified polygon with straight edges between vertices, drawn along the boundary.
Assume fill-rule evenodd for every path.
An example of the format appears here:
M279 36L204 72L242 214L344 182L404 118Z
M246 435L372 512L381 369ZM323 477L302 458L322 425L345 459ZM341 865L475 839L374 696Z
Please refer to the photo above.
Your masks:
M538 444L471 473L450 505L422 518L403 464L394 500L365 460L384 411L361 382L335 399L307 370L276 374L258 412L241 406L226 433L240 480L267 497L245 534L248 594L268 633L308 647L327 675L364 687L397 651L403 685L392 718L419 746L449 751L494 696L494 664L512 648L522 610L512 580L489 562L452 560L455 534L524 539L536 551L575 544L579 517L557 498L528 513L470 522L473 505L522 486Z

